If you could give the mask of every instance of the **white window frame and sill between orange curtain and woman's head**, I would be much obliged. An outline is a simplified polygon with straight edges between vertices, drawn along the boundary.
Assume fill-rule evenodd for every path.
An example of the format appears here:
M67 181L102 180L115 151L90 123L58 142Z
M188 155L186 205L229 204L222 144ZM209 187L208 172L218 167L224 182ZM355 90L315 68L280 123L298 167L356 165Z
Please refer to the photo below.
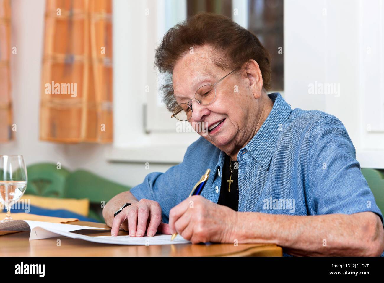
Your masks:
M149 86L151 94L156 89L156 41L151 40L158 38L156 19L159 5L165 10L165 4L153 0L113 1L114 142L106 151L109 161L177 164L187 147L199 138L197 133L145 131L146 90Z

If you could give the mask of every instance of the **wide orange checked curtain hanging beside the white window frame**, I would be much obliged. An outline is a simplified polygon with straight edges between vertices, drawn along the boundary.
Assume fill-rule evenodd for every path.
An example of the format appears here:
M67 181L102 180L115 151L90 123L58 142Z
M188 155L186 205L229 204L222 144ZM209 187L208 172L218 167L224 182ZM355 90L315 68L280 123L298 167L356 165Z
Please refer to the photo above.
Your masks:
M47 0L40 139L113 140L111 0Z

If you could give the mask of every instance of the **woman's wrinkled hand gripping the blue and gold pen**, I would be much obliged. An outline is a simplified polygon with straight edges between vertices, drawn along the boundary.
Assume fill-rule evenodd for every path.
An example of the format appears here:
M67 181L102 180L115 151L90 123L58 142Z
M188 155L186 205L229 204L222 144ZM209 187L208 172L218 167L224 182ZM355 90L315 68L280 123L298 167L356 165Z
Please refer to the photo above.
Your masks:
M236 223L236 211L202 196L191 196L169 212L170 232L192 243L233 243Z

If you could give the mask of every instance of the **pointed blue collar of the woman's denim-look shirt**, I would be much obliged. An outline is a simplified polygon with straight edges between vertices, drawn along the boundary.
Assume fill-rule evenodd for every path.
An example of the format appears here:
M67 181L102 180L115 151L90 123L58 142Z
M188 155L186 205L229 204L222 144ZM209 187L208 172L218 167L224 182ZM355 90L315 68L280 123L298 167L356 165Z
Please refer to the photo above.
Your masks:
M268 97L274 102L271 112L252 140L237 154L237 160L240 160L248 151L265 170L268 170L271 163L277 137L291 114L291 106L280 93L273 92ZM223 165L224 157L225 152L220 151L216 170Z

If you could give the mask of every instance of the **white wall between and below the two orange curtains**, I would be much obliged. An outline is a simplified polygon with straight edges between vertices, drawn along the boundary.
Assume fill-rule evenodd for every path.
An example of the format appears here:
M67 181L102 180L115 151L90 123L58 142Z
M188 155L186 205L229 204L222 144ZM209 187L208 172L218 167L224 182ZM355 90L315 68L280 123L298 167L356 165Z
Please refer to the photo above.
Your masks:
M0 154L22 154L26 164L61 162L70 170L86 169L114 180L134 186L152 171L166 171L170 165L142 163L109 163L106 152L111 146L97 144L53 144L39 141L39 107L41 56L44 36L43 0L12 0L12 97L14 123L17 124L15 141L0 144ZM126 105L127 109L133 105Z

